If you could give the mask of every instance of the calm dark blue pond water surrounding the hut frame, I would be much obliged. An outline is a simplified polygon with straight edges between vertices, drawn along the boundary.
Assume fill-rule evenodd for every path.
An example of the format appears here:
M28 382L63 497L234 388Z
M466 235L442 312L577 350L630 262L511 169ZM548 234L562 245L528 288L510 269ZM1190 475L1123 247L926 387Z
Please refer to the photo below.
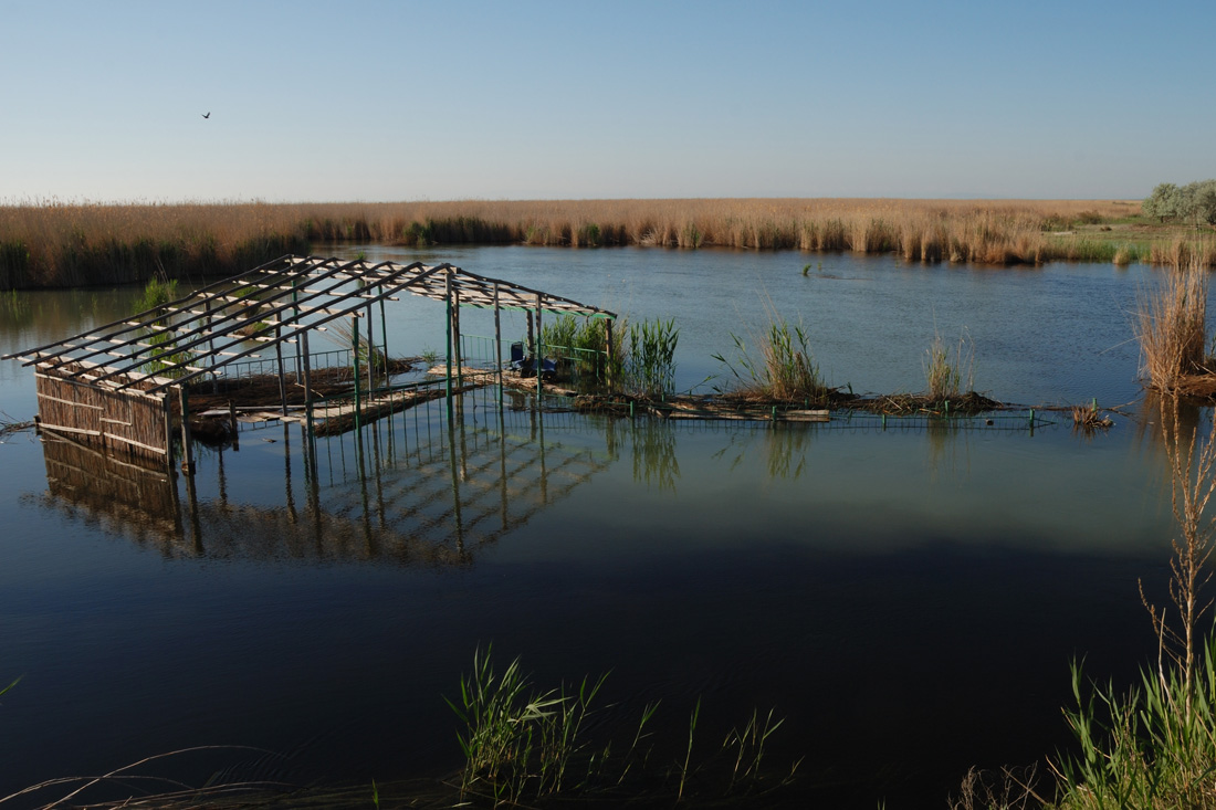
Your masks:
M681 388L706 390L710 355L772 308L857 392L922 388L935 330L966 328L976 388L997 399L1139 394L1127 314L1145 268L823 257L820 270L811 257L803 276L806 257L779 253L364 249L675 316ZM113 320L130 294L28 294L29 315L0 322L0 353ZM441 309L394 306L390 351L441 345ZM465 330L492 333L482 319ZM29 370L0 364L0 411L35 407ZM773 429L508 407L500 421L490 389L451 424L437 403L358 444L246 431L238 452L202 451L192 482L97 474L88 452L10 435L0 679L22 681L0 704L0 795L210 744L259 750L143 772L441 775L460 764L441 696L492 643L542 686L610 670L610 719L662 699L657 730L677 742L699 697L706 749L776 707L771 760L806 755L796 800L938 804L970 765L1068 744L1071 659L1131 679L1154 651L1137 595L1143 578L1164 601L1167 576L1154 435L1120 418L1087 440L1051 412L1034 431L1021 416Z

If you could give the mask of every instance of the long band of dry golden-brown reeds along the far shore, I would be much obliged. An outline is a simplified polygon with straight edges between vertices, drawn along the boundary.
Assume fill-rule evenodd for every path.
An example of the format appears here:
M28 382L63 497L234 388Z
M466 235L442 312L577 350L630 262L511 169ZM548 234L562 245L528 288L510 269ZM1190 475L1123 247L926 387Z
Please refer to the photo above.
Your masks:
M1119 261L1115 247L1063 241L1053 232L1138 214L1139 203L1128 201L38 201L0 206L0 289L142 282L158 272L233 275L334 241L848 251L983 264ZM1122 259L1170 257L1132 252Z

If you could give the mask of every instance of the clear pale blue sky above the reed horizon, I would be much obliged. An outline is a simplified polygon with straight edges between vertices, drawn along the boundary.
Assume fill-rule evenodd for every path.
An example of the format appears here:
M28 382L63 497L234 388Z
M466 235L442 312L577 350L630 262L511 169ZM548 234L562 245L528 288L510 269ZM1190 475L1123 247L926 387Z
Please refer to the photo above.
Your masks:
M0 202L1136 198L1216 176L1211 0L0 0Z

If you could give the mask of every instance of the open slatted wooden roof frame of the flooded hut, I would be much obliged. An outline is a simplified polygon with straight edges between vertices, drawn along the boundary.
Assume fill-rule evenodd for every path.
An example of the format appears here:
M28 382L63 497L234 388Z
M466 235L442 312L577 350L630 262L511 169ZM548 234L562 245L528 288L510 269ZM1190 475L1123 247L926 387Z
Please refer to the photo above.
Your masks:
M342 317L411 293L458 306L550 311L615 320L617 314L569 298L482 276L447 263L370 263L283 255L209 283L163 306L9 355L56 376L148 395L185 386L266 344L281 350ZM161 336L163 342L157 343ZM259 345L249 348L249 343ZM156 372L148 371L154 367Z

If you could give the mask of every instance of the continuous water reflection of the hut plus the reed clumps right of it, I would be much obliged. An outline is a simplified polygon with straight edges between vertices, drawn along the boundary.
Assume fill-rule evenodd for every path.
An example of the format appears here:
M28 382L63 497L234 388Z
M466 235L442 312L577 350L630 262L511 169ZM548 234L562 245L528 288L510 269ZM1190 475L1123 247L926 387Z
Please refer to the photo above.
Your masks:
M511 406L500 409L497 395L485 388L460 396L451 420L441 401L427 403L339 437L309 439L294 424L248 429L243 451L233 445L201 452L198 476L147 471L49 437L50 501L103 514L169 556L432 567L472 562L479 549L569 496L618 460L623 438L634 482L676 491L682 431L670 422L536 410L511 393ZM973 431L1029 427L1023 417L997 421L855 415L823 424L732 427L711 457L727 462L715 474L745 467L798 482L815 465L809 456L821 432L913 432L924 435L933 483L941 474L969 477ZM721 429L681 427L702 438ZM259 454L263 443L278 450ZM241 463L233 465L225 456L237 451ZM749 462L754 454L760 456ZM828 454L821 463L839 460Z

